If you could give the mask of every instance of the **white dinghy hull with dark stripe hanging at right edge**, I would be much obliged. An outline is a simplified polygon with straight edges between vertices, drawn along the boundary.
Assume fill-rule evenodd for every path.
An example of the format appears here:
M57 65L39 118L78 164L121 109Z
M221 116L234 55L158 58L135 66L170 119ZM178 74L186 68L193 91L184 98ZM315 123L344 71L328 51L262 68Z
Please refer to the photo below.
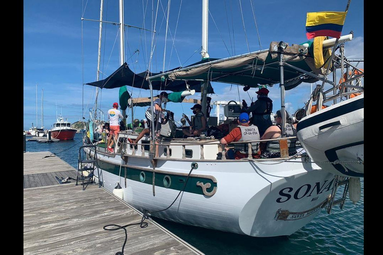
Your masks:
M306 116L297 126L297 137L322 169L363 177L364 94ZM336 160L342 164L329 163Z

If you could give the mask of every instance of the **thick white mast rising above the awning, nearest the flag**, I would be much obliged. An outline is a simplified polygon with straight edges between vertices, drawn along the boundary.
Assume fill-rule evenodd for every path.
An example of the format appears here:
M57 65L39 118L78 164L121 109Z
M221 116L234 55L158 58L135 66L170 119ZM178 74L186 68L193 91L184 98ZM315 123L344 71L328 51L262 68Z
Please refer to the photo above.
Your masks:
M208 7L209 7L209 0L202 0L202 50L201 50L202 59L209 58L209 54L207 53ZM207 106L207 103L206 103L207 85L208 85L208 82L205 82L201 85L202 113L205 116L206 116L206 106Z

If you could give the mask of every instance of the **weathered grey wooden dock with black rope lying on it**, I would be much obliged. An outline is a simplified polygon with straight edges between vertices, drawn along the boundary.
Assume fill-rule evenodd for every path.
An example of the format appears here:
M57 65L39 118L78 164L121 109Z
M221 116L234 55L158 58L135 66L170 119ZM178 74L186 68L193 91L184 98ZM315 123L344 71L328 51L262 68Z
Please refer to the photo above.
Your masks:
M41 174L58 176L76 170L59 157L42 158L50 152L24 153L24 255L115 255L125 241L124 230L105 231L108 224L139 223L141 212L98 185L48 184ZM47 160L47 161L44 161ZM66 166L66 168L64 167ZM25 187L25 175L38 177ZM63 177L62 176L62 177ZM65 176L67 177L67 176ZM56 178L54 178L56 179ZM44 181L43 181L44 180ZM31 183L31 182L30 182ZM124 254L202 254L158 223L127 227Z

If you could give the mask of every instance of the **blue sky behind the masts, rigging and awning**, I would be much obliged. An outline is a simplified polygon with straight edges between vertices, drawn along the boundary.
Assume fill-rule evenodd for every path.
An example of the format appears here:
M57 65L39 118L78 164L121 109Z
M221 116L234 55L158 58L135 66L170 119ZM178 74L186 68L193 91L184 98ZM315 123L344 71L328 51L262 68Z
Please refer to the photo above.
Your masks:
M307 12L344 11L346 4L347 0L209 0L208 53L212 58L224 58L247 53L248 48L250 51L259 50L260 45L252 9L262 49L266 49L271 41L283 40L290 45L307 41L305 34ZM160 1L155 28L156 43L152 72L180 65L190 65L201 59L199 54L201 0L171 1L169 30L165 44L166 21L164 17L167 13L167 5L168 0ZM157 1L152 0L125 1L125 23L152 29L156 7ZM24 129L31 127L32 123L36 126L36 84L38 127L41 126L41 89L43 89L43 124L45 128L51 128L56 121L56 102L58 113L60 114L62 109L63 117L69 122L79 121L82 116L88 119L88 109L93 106L95 101L95 88L82 84L96 80L99 23L81 22L82 16L87 19L99 19L100 1L24 0ZM118 0L104 0L103 19L119 22ZM363 0L351 1L342 34L348 34L351 30L354 31L354 39L346 44L346 56L363 58ZM126 28L125 61L136 73L148 68L151 51L151 33L140 31L136 28ZM120 66L117 36L117 26L104 23L100 79L107 77ZM166 52L165 61L164 51ZM363 68L363 63L358 67ZM340 76L338 75L338 77ZM237 85L213 83L212 86L216 92L216 95L211 96L212 101L238 100ZM278 85L269 89L269 96L274 101L274 112L276 112L280 109L280 89ZM287 91L285 102L288 112L294 113L295 110L303 107L309 99L310 90L310 84L302 84ZM131 87L128 87L128 91L131 92ZM248 91L254 100L256 91L257 89ZM118 102L118 92L118 89L101 91L99 107L101 103L103 112L106 113L113 102ZM133 97L149 95L149 91L133 89ZM199 93L193 96L193 98L199 97ZM239 98L245 99L248 104L251 102L242 87L239 88ZM191 104L170 103L167 108L175 112L175 119L179 121L183 112L189 116L192 114L191 106ZM144 108L136 108L135 118L144 119L144 111Z

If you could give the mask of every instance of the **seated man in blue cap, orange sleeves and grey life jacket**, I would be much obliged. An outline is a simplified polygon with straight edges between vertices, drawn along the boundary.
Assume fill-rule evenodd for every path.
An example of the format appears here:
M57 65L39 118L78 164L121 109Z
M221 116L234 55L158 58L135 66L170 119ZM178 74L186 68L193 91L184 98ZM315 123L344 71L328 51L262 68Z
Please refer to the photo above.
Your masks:
M235 141L254 141L259 140L259 131L257 126L249 125L249 115L247 113L241 113L238 119L238 126L233 128L220 142L221 144L227 144ZM259 158L259 142L251 143L252 157ZM226 158L228 159L241 159L247 158L248 143L234 143L234 150L228 150ZM221 153L221 152L219 152ZM218 157L220 156L218 153Z

